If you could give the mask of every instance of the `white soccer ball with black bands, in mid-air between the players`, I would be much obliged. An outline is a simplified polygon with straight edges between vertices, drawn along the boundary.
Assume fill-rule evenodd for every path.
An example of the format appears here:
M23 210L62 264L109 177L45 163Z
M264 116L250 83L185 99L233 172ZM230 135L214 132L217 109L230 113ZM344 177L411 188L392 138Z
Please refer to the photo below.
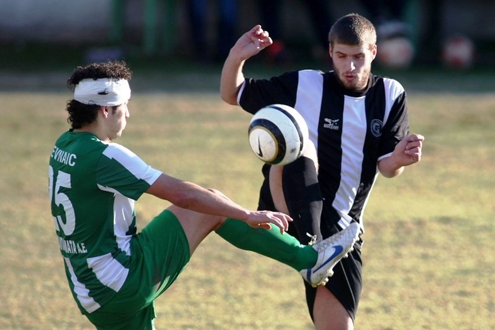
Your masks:
M254 155L272 165L297 160L309 139L304 118L294 108L282 104L258 110L249 122L247 135Z

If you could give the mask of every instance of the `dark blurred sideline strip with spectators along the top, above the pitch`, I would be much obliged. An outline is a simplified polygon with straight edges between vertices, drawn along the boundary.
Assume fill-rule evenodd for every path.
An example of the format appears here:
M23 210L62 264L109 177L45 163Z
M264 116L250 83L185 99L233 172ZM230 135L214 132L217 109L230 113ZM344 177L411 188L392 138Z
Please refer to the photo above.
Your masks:
M1 0L0 69L221 64L258 23L275 45L255 60L326 69L328 30L349 12L375 23L377 67L494 68L492 0Z

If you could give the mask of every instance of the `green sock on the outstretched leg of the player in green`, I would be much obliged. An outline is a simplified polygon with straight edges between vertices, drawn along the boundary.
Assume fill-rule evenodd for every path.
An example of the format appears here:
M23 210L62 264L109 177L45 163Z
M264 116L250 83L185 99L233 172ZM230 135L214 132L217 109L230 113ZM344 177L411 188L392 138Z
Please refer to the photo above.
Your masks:
M246 222L227 219L216 233L240 249L275 259L298 272L316 264L318 253L311 246L301 245L294 236L282 235L277 226L271 226L270 230L253 228Z

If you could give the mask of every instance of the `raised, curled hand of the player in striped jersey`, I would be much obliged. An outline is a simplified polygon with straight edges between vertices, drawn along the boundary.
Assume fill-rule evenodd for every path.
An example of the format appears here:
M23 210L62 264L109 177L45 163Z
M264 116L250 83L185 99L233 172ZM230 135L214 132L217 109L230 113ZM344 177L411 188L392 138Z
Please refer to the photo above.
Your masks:
M239 56L241 60L246 60L271 44L273 40L268 35L268 31L263 30L258 24L239 38L232 47L231 54Z

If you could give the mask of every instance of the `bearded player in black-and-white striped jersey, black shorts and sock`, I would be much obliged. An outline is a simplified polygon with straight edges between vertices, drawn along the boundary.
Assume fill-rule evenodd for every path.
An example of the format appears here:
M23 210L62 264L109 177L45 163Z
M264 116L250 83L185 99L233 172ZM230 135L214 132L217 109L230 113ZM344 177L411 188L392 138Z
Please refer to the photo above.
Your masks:
M232 105L254 113L286 104L308 124L315 155L285 166L263 166L259 208L288 212L290 232L301 243L319 241L358 222L378 176L396 177L421 159L424 140L409 134L406 94L393 79L371 73L376 56L373 24L358 14L340 18L329 33L334 70L286 72L271 79L245 78L245 61L272 40L257 25L231 49L222 70L220 93ZM335 267L325 287L306 285L309 312L317 329L352 329L361 293L362 240Z

